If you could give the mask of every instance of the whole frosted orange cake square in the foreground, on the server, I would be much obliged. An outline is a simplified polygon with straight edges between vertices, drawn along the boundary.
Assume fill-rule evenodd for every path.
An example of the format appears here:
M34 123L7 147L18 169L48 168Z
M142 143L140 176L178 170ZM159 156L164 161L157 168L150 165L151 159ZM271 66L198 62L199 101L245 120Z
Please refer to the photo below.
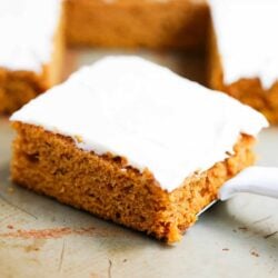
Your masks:
M267 121L136 57L109 57L11 117L12 180L175 242L229 178L254 162Z

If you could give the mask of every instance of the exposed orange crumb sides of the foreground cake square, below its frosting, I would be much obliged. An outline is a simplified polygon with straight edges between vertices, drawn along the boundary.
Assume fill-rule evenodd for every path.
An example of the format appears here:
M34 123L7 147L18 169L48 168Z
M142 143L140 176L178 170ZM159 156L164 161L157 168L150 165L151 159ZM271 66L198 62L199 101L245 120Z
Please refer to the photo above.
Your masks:
M40 127L13 122L13 128L14 182L167 242L180 240L220 186L254 162L255 140L242 135L235 155L168 192L123 157L83 151L71 138Z

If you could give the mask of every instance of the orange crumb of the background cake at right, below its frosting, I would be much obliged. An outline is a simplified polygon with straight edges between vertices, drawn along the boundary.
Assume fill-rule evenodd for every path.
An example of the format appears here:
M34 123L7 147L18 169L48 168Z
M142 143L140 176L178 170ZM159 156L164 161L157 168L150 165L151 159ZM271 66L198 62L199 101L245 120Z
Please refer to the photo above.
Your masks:
M212 29L211 29L212 30ZM241 78L240 80L226 85L224 81L224 69L221 58L217 48L217 39L210 31L208 57L208 85L211 89L227 92L229 96L249 105L262 112L267 119L278 123L278 82L270 89L264 89L259 78Z

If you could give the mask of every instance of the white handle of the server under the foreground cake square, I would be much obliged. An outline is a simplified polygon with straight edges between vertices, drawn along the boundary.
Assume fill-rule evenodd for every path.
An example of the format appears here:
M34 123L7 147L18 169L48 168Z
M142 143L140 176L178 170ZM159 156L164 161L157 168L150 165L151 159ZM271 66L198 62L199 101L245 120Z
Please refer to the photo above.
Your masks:
M278 168L249 167L228 180L220 189L218 197L224 201L239 192L278 198Z

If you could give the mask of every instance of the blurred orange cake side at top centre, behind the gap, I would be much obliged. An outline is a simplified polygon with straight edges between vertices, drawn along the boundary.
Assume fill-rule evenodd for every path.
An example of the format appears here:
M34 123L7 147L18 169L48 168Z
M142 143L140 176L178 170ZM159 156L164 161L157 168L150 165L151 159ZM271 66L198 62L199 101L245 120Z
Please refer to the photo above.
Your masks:
M71 46L196 49L205 46L205 0L67 0Z

